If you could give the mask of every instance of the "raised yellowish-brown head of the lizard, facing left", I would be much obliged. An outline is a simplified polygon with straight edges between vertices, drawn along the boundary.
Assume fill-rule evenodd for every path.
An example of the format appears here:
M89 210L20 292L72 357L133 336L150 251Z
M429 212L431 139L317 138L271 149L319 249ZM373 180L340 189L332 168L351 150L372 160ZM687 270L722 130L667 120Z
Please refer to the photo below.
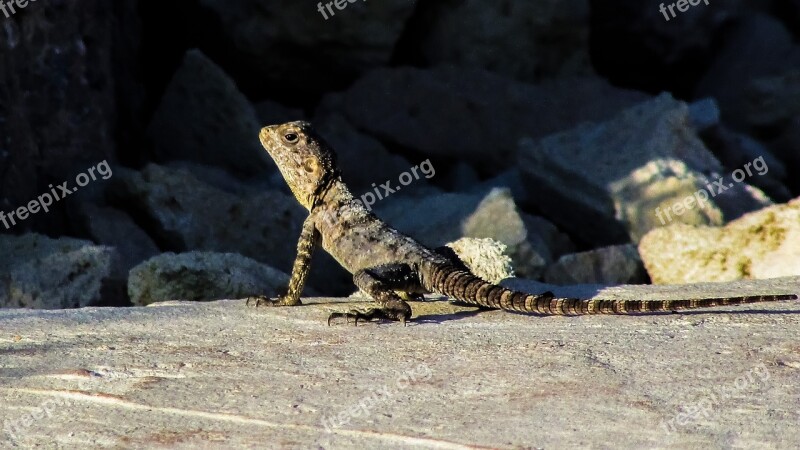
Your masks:
M266 126L259 139L297 201L311 210L339 174L336 153L308 122Z

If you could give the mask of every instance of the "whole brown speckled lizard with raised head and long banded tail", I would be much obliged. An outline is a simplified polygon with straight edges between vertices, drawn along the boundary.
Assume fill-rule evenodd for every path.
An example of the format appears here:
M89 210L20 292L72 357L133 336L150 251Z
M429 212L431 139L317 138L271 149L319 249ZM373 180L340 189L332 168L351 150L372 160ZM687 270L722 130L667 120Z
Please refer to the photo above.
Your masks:
M461 303L536 315L632 314L792 300L763 295L684 300L603 300L560 298L547 291L530 294L489 283L473 273L447 247L431 249L391 228L355 199L342 181L336 152L308 122L263 127L259 140L275 161L297 201L308 210L287 288L275 299L249 297L246 304L296 306L311 258L318 247L353 274L355 285L378 303L365 311L333 312L335 318L404 324L411 319L407 300L437 293Z

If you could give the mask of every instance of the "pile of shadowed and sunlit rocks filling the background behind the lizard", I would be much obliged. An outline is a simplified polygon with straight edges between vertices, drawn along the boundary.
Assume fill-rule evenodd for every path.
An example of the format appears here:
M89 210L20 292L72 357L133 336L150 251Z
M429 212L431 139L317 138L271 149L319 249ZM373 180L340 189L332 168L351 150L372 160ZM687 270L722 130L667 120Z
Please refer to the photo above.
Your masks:
M257 134L298 119L356 195L429 161L376 214L430 245L499 241L453 246L502 249L520 277L800 274L800 2L668 21L659 3L386 0L326 19L313 1L39 0L0 15L0 211L113 169L0 224L0 307L274 294L304 211ZM309 284L353 291L324 254Z

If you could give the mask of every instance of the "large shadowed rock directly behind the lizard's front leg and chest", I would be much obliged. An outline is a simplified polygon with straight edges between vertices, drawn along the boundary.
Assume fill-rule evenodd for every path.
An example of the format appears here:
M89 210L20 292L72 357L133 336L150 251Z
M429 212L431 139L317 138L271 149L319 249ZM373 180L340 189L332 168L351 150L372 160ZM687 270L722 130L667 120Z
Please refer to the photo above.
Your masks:
M141 172L120 171L115 181L115 203L143 217L162 248L238 253L291 271L307 212L290 195L225 192L186 169L154 164ZM324 292L351 289L352 277L324 252L318 255L309 274L310 285L324 286Z

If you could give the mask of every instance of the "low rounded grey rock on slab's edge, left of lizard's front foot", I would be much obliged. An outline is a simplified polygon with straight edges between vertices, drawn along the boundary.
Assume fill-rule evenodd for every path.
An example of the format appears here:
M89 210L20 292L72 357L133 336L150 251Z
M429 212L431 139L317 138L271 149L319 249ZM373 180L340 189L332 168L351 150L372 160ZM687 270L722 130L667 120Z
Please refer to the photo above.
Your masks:
M131 270L128 295L136 306L164 300L274 298L288 284L284 272L236 253L164 253Z

